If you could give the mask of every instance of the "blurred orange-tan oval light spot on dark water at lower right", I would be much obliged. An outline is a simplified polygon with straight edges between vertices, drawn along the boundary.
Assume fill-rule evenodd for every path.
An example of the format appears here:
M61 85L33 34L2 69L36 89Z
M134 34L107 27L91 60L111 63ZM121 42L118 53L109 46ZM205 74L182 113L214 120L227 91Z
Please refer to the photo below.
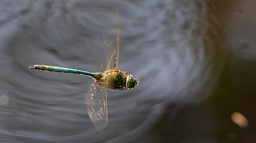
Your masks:
M240 112L233 112L233 114L231 115L231 119L241 128L246 128L248 125L247 119Z

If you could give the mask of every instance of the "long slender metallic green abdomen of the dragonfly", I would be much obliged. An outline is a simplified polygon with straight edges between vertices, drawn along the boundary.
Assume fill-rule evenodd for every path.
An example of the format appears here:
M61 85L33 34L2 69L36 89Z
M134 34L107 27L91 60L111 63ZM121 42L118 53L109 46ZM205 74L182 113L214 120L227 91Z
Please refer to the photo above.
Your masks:
M58 67L58 66L46 66L43 64L34 64L29 66L28 68L30 69L35 69L35 70L41 70L41 71L49 71L49 72L64 72L64 73L76 73L80 75L86 75L86 76L91 76L94 79L101 78L103 75L101 73L92 73L92 72L87 72L87 71L82 71L82 70L77 70L74 68L68 68L68 67Z

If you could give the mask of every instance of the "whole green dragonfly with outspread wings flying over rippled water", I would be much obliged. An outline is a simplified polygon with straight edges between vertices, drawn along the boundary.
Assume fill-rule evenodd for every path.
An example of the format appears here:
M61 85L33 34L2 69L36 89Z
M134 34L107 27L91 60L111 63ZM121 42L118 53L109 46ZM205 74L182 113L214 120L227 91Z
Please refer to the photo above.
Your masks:
M117 14L117 22L115 29L115 42L113 44L113 51L108 60L106 60L105 71L101 72L88 72L83 70L77 70L68 67L59 66L47 66L43 64L34 64L29 66L29 69L49 71L49 72L63 72L63 73L75 73L92 77L94 83L91 84L88 94L85 96L85 103L87 111L92 120L92 123L96 130L100 133L106 132L108 125L108 89L125 90L133 89L139 84L139 79L126 71L122 71L118 68L119 58L119 32L118 32L118 19L119 11L115 7ZM98 85L97 85L97 84ZM96 86L96 85L97 86Z

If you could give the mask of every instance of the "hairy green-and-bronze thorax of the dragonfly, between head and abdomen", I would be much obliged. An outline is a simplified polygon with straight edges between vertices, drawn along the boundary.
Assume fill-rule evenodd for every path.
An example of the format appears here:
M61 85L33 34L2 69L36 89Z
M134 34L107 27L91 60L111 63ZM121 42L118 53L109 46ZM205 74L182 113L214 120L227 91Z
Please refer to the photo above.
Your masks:
M113 70L107 70L101 72L104 75L101 79L95 80L96 83L101 86L105 86L117 90L126 89L126 77L127 72L119 70L118 68Z

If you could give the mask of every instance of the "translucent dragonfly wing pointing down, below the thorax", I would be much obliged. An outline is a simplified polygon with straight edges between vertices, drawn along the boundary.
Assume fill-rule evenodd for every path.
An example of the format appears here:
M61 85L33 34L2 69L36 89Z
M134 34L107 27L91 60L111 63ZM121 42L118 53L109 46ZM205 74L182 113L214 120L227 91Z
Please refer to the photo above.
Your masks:
M90 85L85 103L90 119L98 132L105 134L108 125L108 89L96 83Z

